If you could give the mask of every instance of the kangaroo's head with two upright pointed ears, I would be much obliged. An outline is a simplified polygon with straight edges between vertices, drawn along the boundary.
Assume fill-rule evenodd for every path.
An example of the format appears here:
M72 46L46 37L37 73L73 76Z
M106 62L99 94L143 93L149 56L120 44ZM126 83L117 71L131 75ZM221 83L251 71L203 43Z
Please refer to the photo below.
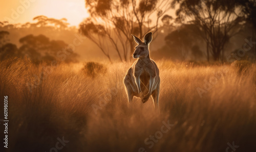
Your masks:
M133 38L138 45L135 47L133 58L145 58L150 54L150 50L148 49L150 42L152 41L152 32L147 33L144 36L144 42L140 40L140 38L133 35Z

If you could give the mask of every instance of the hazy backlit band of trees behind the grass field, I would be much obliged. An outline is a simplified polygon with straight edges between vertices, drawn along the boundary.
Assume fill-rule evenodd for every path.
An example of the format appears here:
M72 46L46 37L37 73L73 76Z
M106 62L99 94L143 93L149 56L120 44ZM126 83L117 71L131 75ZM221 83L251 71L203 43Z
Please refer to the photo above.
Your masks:
M175 6L176 18L168 11ZM173 61L254 61L256 2L233 1L87 1L90 17L77 29L65 18L37 16L34 23L0 22L0 57L30 58L33 63L58 60L75 34L84 40L64 62L107 59L130 61L133 37L153 32L151 57ZM8 37L9 36L9 37Z

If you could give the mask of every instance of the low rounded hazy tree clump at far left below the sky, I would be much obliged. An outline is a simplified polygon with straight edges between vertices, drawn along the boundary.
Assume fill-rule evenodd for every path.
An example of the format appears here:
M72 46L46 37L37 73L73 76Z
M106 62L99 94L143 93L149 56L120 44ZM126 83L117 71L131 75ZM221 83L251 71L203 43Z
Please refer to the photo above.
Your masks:
M44 35L27 35L19 39L22 46L17 48L12 43L5 43L0 47L0 59L4 60L9 57L29 58L32 63L41 62L77 62L78 55L68 48L68 44L60 40L49 40Z

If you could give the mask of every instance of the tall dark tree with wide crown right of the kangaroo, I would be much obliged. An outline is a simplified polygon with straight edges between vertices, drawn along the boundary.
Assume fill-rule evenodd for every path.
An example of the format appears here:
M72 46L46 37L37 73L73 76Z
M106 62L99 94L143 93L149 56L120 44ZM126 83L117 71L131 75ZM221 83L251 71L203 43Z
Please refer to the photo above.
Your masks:
M214 61L223 61L224 47L229 39L238 33L240 22L243 21L240 12L236 12L232 4L226 1L189 1L174 0L179 4L176 11L178 20L183 23L193 23L198 30L203 31L202 38L206 42L207 60L211 54Z

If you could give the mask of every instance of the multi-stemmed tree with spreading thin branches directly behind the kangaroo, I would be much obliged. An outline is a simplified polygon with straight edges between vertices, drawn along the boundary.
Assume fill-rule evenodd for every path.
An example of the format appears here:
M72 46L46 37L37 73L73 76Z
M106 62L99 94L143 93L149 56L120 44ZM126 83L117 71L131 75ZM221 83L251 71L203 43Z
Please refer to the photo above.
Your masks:
M80 24L80 32L100 47L109 60L107 44L111 43L120 61L127 61L133 53L131 34L142 38L149 31L157 33L159 19L171 5L170 0L86 0L86 8L91 18Z

